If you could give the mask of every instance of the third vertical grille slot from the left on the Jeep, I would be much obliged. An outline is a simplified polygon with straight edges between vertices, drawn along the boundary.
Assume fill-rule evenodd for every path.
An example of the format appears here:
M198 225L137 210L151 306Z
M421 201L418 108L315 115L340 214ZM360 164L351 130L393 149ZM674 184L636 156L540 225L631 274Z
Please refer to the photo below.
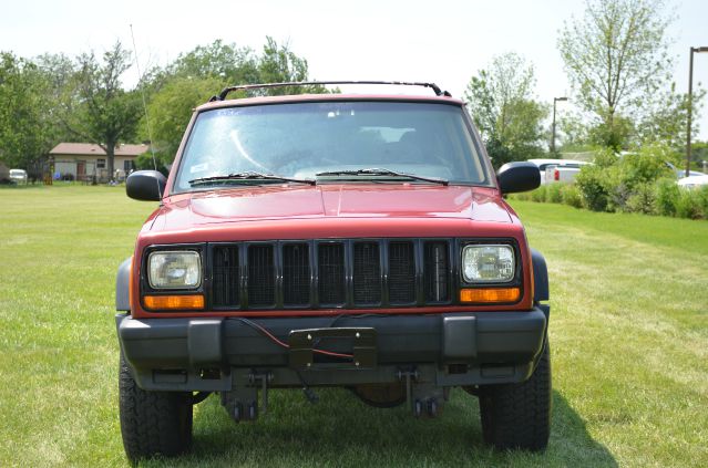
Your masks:
M283 247L283 302L285 305L310 303L310 257L307 243Z

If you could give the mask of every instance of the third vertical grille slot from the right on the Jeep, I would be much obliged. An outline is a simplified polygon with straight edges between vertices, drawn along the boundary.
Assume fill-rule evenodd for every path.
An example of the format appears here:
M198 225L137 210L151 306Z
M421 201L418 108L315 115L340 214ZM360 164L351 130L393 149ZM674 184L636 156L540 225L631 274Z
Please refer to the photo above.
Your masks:
M376 242L355 243L353 301L357 305L381 302L381 259Z

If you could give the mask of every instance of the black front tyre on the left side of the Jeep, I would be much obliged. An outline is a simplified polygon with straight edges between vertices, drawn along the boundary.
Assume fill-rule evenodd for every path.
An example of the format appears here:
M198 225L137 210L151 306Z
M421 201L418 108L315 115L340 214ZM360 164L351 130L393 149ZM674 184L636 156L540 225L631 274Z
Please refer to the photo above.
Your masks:
M121 434L127 458L183 454L192 446L192 393L146 392L121 356L119 379Z

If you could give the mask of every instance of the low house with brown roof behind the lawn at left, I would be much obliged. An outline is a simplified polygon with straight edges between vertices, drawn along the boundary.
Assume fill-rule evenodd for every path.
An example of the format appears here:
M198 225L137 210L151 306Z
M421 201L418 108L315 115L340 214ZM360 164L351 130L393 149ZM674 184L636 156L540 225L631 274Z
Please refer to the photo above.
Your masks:
M147 152L147 145L119 145L115 147L113 169L117 173L113 177L125 178L133 169L133 162L138 155ZM103 148L91 143L60 143L49 152L54 157L54 174L61 177L71 175L75 180L95 178L109 180L107 157Z

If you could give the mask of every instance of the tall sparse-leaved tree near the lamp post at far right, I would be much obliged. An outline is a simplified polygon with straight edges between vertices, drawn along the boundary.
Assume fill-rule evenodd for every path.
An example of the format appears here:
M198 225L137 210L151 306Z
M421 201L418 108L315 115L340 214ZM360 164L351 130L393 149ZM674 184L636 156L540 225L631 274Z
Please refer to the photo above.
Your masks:
M604 144L619 148L625 123L618 114L646 108L668 81L671 58L664 0L593 0L583 19L566 23L558 50L575 102L602 122Z

